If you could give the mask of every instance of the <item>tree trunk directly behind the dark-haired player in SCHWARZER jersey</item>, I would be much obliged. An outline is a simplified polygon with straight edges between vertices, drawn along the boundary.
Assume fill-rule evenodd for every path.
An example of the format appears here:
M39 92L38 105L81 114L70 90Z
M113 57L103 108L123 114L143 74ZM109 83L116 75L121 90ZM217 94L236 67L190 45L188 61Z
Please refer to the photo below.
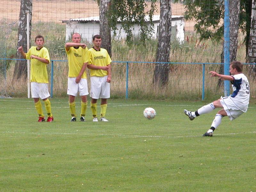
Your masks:
M100 36L102 37L102 48L108 51L111 57L111 29L108 23L108 9L110 0L100 0Z

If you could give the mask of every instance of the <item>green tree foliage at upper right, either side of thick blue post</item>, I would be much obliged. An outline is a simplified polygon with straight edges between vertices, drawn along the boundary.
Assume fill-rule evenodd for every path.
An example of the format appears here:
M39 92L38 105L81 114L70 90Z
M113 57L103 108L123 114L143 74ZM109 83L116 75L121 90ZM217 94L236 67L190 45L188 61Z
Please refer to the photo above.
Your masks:
M174 3L178 3L174 0ZM224 0L184 0L186 11L185 20L196 20L194 26L200 34L200 40L212 39L219 41L224 31ZM248 1L241 0L239 28L245 33L248 24L251 24L251 16L248 12Z

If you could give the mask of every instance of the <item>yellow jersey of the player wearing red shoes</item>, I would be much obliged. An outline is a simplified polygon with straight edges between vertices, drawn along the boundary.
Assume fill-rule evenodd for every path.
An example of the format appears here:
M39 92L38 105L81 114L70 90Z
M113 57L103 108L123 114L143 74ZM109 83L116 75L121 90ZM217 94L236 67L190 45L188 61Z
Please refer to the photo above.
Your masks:
M40 50L37 50L36 46L33 46L26 53L26 59L31 60L30 82L48 83L48 74L46 69L47 64L37 59L31 59L31 55L44 58L50 62L48 50L45 47L42 47Z

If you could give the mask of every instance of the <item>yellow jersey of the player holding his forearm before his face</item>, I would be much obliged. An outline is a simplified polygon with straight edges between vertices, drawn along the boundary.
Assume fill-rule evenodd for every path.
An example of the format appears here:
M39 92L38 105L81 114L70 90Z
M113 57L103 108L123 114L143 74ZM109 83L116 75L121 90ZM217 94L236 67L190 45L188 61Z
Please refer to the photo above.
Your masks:
M66 53L68 55L68 77L77 77L84 63L90 62L88 48L70 47L68 51L66 50ZM82 78L86 79L86 70L84 70Z

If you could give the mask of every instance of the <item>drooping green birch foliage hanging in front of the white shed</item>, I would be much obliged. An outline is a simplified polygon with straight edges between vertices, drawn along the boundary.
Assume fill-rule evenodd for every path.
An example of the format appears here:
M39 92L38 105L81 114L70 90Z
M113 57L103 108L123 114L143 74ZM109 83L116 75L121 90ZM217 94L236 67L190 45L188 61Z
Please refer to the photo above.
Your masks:
M114 36L116 36L116 25L121 22L121 27L127 34L126 41L128 44L132 43L134 24L140 26L140 41L145 42L145 40L149 39L154 29L152 17L156 10L156 0L151 0L150 2L149 11L145 11L148 8L148 4L144 0L112 0L108 18L110 27L114 31ZM146 21L146 15L149 16L148 21Z

